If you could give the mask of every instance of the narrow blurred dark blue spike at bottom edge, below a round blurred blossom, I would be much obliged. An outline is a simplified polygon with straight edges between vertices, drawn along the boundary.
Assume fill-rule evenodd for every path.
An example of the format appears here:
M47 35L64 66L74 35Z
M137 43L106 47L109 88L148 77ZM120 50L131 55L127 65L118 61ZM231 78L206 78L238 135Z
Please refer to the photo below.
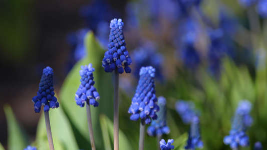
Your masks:
M198 116L193 116L188 133L187 145L185 149L203 148L204 144L200 135L200 122Z

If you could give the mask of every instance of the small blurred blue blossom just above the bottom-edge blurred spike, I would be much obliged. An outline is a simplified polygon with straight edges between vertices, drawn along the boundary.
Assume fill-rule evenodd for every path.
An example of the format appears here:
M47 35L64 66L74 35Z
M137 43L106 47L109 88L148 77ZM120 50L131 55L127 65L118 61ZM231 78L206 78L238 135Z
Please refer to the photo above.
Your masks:
M191 123L193 117L196 116L194 103L191 101L179 100L175 103L175 109L185 124Z

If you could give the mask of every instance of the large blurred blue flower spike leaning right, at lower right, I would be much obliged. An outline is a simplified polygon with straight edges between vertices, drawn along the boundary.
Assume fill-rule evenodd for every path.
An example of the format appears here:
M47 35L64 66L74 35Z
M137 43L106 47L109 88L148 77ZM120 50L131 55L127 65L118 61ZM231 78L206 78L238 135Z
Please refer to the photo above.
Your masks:
M249 137L245 134L245 131L253 122L249 115L250 109L251 103L249 101L241 100L239 102L229 135L223 138L223 142L230 145L232 149L237 149L239 145L242 147L249 145Z

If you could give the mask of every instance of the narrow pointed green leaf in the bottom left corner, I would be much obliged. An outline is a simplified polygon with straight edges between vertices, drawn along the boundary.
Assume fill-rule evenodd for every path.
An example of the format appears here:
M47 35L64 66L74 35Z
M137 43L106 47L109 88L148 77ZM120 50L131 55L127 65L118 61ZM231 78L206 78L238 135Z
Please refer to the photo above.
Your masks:
M5 105L4 111L8 122L8 148L10 150L25 148L29 144L28 138L16 120L11 106Z

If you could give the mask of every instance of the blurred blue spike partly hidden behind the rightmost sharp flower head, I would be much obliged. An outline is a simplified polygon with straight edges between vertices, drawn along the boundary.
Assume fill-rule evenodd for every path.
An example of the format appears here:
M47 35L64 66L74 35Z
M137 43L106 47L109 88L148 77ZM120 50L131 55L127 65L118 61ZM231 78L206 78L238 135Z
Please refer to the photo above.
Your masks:
M158 97L159 111L156 113L158 118L152 120L152 123L147 128L147 133L149 136L161 136L162 134L168 134L170 132L169 126L167 126L166 116L166 99L163 96Z

